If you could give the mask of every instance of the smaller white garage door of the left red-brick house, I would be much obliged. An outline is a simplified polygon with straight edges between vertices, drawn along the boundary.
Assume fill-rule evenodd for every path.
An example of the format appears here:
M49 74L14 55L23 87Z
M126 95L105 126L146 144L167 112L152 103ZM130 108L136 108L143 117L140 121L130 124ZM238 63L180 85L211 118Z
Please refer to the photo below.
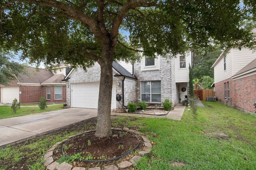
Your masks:
M19 101L20 98L20 87L3 87L3 103L12 103L12 101L16 98Z

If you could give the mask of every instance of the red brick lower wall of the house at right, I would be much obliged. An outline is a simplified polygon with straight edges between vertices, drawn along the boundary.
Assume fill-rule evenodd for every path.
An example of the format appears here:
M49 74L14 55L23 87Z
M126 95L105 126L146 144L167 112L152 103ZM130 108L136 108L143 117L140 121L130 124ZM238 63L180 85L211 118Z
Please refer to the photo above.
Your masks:
M215 83L216 97L218 101L226 103L224 97L224 83L229 82L230 99L228 105L237 109L254 113L256 102L256 74L241 79L231 78Z

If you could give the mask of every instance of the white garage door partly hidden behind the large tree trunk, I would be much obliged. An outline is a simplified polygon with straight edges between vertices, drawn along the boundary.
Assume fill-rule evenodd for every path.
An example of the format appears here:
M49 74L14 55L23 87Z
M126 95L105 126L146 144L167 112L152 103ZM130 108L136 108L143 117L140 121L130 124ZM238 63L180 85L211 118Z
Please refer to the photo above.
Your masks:
M71 107L98 109L100 83L72 84ZM116 108L116 82L113 82L111 109Z

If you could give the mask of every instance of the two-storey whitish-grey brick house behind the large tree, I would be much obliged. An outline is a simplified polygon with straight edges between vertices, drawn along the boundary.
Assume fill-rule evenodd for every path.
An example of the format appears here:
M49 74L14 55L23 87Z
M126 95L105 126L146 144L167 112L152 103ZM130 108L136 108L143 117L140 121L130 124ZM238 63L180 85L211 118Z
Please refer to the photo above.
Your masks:
M113 62L113 87L111 109L127 106L128 102L146 101L151 105L161 105L164 99L170 99L173 105L185 99L188 94L188 66L192 63L193 52L177 55L167 61L158 56L155 59L142 57L135 64L123 61ZM67 105L81 108L98 108L98 93L100 87L100 65L85 72L78 67L66 75ZM183 91L182 91L183 88ZM185 89L185 90L184 90ZM122 96L121 101L116 95Z

